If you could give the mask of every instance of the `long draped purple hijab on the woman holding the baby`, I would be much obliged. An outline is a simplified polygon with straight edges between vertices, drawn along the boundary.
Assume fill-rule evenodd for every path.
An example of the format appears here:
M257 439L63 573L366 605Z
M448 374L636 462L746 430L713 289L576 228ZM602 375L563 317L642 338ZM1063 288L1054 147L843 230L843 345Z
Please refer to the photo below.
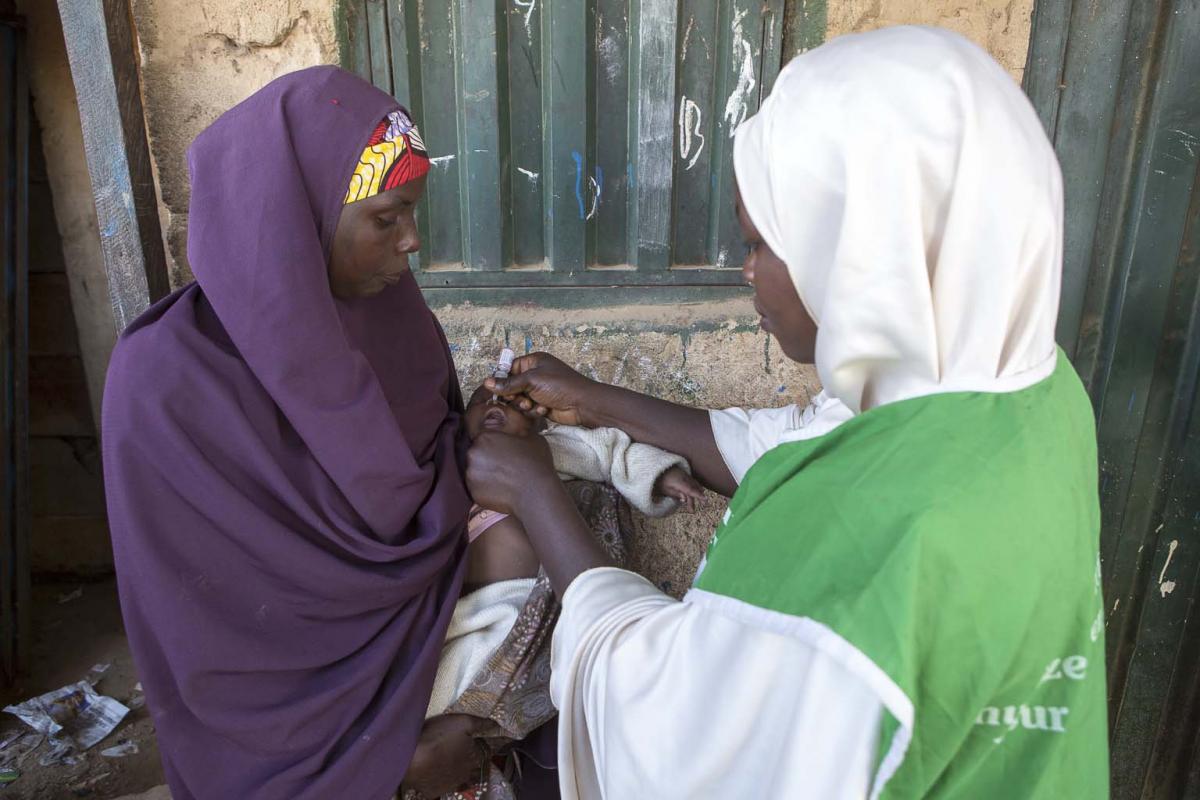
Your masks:
M396 101L334 67L188 152L196 284L113 354L103 445L130 643L175 800L389 798L458 597L462 399L409 275L330 294L359 154Z

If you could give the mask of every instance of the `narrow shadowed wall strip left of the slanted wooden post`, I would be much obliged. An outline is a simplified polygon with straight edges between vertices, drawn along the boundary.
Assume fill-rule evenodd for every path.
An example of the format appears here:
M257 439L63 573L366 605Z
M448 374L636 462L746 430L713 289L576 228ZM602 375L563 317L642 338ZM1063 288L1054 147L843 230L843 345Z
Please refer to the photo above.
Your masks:
M104 575L113 553L96 427L116 331L58 6L30 0L18 11L38 122L30 133L30 560L41 575Z

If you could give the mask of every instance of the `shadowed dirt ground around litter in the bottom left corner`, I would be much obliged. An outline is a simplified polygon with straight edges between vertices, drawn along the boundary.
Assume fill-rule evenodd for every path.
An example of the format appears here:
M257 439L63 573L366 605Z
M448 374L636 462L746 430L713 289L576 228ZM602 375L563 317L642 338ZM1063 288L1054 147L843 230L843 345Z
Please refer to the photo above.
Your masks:
M32 669L14 686L0 687L0 708L83 680L92 666L106 663L110 666L96 691L128 705L138 678L125 639L115 579L35 584L34 630ZM30 728L10 714L0 714L0 742L17 730ZM119 758L101 756L102 750L124 741L137 745L138 752ZM110 800L164 783L154 723L145 706L132 710L73 766L38 765L47 752L43 742L16 765L20 776L0 786L0 800ZM0 750L0 760L5 754ZM169 800L169 794L158 788L146 800L150 798Z

